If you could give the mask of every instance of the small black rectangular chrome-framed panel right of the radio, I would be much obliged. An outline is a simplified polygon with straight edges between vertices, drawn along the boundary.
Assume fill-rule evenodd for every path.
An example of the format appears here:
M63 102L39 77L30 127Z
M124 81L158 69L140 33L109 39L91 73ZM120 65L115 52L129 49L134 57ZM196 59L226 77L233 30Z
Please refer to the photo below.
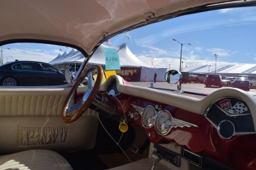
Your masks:
M189 150L185 150L181 148L181 157L188 160L192 164L195 164L198 167L204 167L204 157L201 155L197 155L196 153L190 152Z

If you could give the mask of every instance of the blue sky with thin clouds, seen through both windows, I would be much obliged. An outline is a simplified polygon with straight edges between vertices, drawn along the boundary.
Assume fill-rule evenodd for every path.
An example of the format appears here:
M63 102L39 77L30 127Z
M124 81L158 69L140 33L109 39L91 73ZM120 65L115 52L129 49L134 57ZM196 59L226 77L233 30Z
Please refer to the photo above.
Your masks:
M256 64L256 10L232 8L208 11L195 15L185 15L161 23L148 25L134 31L125 32L110 39L112 46L127 43L129 49L141 60L156 67L178 69L180 44L191 43L182 48L182 61L187 66L215 64L214 53L218 54L218 64ZM131 39L125 38L125 35ZM22 46L4 45L4 62L10 60L40 60L49 62L59 53L69 52L65 46ZM33 49L33 50L29 50ZM63 51L61 52L60 49ZM11 58L12 57L12 58Z

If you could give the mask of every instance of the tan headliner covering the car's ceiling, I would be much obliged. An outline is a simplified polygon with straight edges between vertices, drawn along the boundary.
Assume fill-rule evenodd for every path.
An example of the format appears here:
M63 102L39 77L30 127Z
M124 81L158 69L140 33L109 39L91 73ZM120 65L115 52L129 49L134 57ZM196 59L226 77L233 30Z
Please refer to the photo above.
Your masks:
M156 17L223 0L2 0L0 41L42 39L80 46L90 53L103 38ZM163 7L164 6L164 7Z

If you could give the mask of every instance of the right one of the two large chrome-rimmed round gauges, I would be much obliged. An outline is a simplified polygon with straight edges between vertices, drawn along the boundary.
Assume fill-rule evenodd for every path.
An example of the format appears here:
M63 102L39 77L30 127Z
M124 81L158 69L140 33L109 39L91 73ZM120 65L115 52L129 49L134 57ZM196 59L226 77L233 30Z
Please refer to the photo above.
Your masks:
M156 132L161 135L166 135L172 129L172 115L167 110L159 111L156 115L155 122Z

